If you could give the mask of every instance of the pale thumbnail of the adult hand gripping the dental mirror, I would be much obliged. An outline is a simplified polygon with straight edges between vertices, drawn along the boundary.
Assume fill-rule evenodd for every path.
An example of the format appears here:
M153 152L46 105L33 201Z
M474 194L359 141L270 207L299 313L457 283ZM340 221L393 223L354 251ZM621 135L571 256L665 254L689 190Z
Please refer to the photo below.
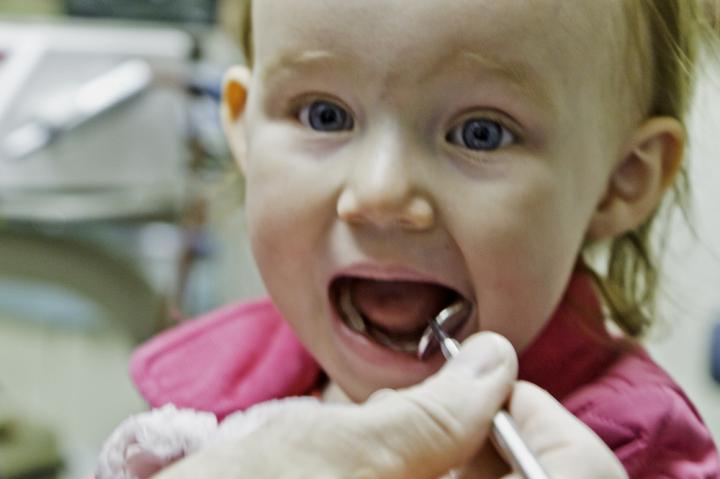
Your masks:
M459 367L481 376L510 361L515 350L510 342L495 333L480 333L463 342L460 354L453 360Z

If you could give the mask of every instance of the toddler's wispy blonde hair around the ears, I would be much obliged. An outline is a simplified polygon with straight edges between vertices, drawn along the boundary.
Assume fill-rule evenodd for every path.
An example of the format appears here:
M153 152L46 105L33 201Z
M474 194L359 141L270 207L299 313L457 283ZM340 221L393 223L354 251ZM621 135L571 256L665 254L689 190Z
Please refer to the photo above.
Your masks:
M668 116L685 124L693 97L700 37L718 21L716 0L622 0L630 31L629 48L640 61L639 79L647 98L642 118ZM241 0L239 39L246 62L253 62L252 0ZM712 14L714 12L714 14ZM711 18L711 16L713 18ZM663 204L638 228L614 238L601 255L603 264L584 268L598 286L610 318L626 334L643 335L652 325L658 289L658 258L662 244L652 236L659 217L680 207L687 211L689 183L683 165ZM667 223L665 223L667 224ZM584 249L584 253L590 248Z

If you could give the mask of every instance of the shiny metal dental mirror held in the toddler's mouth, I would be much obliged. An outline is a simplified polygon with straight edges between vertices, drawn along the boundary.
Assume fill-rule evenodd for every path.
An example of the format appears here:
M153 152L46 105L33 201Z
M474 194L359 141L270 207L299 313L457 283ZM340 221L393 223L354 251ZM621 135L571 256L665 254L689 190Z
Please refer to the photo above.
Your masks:
M457 301L428 321L429 326L418 344L418 358L426 360L438 345L445 359L451 359L460 352L460 343L453 336L467 323L473 312L468 301ZM548 479L542 466L517 431L510 414L501 409L493 417L491 435L496 447L510 463L513 470L525 479Z

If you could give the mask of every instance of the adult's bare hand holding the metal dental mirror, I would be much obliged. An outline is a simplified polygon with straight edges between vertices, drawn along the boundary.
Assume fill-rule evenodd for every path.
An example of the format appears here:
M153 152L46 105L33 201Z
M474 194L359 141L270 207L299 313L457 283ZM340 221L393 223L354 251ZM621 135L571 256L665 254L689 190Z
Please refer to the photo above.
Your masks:
M510 343L481 333L420 385L381 391L362 405L302 401L261 409L264 417L253 432L229 437L155 477L437 479L459 468L455 477L498 478L503 469L483 446L513 388L511 414L550 477L625 477L591 431L538 388L515 386L516 374Z

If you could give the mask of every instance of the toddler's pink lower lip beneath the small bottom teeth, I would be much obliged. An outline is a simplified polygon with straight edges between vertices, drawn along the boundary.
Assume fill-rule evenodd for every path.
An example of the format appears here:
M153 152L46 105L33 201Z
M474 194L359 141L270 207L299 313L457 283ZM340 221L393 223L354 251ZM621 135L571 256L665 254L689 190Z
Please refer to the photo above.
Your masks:
M332 317L333 328L337 337L342 342L345 350L353 353L353 356L361 358L364 364L372 364L382 367L391 366L394 370L401 370L404 373L416 373L417 380L424 379L436 371L444 363L440 354L436 354L427 361L421 361L416 356L393 351L386 348L367 336L356 333L345 322L340 319L332 306L329 308ZM414 376L415 374L413 374Z

